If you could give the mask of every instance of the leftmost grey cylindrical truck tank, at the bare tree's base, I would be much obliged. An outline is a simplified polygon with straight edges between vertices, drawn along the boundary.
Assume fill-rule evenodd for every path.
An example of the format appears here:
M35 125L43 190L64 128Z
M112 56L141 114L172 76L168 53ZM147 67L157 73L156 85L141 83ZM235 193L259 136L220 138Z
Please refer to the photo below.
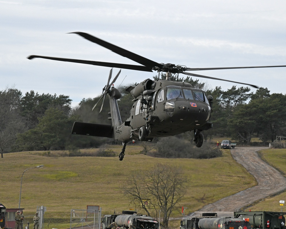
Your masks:
M115 222L118 226L125 225L128 228L130 225L133 229L158 229L158 222L150 216L142 215L119 215L116 216Z

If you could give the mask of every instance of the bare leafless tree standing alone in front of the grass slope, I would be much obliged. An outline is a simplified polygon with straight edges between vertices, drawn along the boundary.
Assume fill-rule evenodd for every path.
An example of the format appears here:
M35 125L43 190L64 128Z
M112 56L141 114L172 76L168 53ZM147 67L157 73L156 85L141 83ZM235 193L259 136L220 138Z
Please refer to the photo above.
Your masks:
M185 193L187 179L182 170L173 165L157 164L148 171L134 172L123 187L136 207L158 218L161 211L162 226L168 228L171 213ZM148 200L148 205L146 205Z

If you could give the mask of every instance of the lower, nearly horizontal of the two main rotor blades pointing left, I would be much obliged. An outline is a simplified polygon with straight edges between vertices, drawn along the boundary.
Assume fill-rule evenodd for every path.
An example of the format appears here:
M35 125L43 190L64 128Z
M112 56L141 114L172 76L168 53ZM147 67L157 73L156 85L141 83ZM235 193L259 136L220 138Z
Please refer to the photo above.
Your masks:
M73 62L80 64L92 64L92 65L111 67L111 68L124 68L124 69L138 70L144 72L153 72L150 68L147 68L146 66L133 65L133 64L118 64L118 63L100 62L92 60L78 60L78 59L59 58L52 56L36 56L36 55L28 56L27 58L29 60L32 60L33 58L43 58L48 60L58 60L58 61Z

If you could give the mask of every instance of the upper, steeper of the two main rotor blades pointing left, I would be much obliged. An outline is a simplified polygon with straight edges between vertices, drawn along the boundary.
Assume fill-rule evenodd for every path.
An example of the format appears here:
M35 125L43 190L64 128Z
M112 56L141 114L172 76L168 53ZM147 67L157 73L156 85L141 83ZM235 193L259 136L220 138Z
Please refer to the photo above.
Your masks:
M109 50L111 50L112 52L115 52L117 54L119 54L120 56L124 56L130 60L133 60L139 64L142 64L150 69L152 69L153 67L162 67L162 64L159 64L153 60L149 60L143 56L139 56L133 52L130 52L126 49L123 49L123 48L120 48L114 44L110 44L109 42L106 42L104 40L101 40L97 37L94 37L88 33L83 33L83 32L72 32L72 33L75 33L75 34L78 34L82 37L84 37L85 39L93 42L93 43L96 43L104 48L107 48Z

